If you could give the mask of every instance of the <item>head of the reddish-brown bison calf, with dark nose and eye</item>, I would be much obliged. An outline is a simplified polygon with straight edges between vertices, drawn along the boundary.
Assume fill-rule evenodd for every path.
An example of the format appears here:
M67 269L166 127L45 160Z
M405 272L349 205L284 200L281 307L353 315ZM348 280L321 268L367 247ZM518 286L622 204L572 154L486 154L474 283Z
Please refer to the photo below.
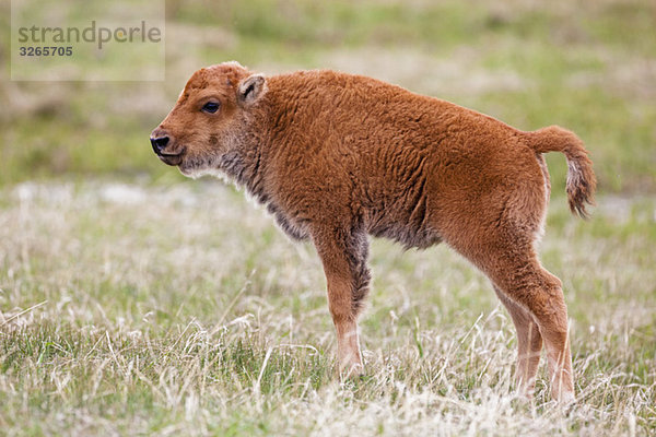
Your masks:
M265 78L237 62L196 71L175 107L152 131L153 152L186 176L211 173L238 143L251 106L266 91Z

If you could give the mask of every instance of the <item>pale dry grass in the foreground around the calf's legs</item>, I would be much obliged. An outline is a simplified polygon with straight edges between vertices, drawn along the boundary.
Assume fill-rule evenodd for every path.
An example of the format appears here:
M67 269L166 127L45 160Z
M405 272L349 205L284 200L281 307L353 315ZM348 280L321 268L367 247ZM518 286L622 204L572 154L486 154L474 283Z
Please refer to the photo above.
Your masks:
M341 382L312 247L216 181L0 192L9 435L646 435L656 432L654 199L552 202L578 404L512 382L512 323L446 247L375 241L367 376Z

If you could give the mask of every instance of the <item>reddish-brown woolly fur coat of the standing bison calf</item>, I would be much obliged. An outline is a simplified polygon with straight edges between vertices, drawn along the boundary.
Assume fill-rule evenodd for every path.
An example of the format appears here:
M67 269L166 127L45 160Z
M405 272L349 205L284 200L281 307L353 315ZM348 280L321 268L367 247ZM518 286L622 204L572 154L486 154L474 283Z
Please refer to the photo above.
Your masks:
M221 106L208 114L207 102ZM572 211L585 215L593 202L591 162L574 133L523 132L370 78L265 78L229 62L197 71L152 137L168 138L155 150L165 163L188 176L226 176L289 236L314 243L341 368L362 369L367 234L408 248L445 241L490 277L511 314L524 391L532 391L544 344L554 398L573 398L561 282L540 265L534 243L550 189L542 153L565 154Z

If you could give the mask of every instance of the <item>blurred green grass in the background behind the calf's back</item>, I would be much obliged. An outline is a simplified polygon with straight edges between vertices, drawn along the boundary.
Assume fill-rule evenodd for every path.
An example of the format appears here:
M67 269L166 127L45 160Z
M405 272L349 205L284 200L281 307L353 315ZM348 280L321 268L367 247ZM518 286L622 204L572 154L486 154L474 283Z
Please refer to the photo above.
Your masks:
M654 192L655 8L639 0L169 1L164 83L2 83L0 184L161 177L149 132L194 70L236 59L267 73L371 74L525 130L559 123L586 142L601 190ZM562 160L550 160L563 179Z

